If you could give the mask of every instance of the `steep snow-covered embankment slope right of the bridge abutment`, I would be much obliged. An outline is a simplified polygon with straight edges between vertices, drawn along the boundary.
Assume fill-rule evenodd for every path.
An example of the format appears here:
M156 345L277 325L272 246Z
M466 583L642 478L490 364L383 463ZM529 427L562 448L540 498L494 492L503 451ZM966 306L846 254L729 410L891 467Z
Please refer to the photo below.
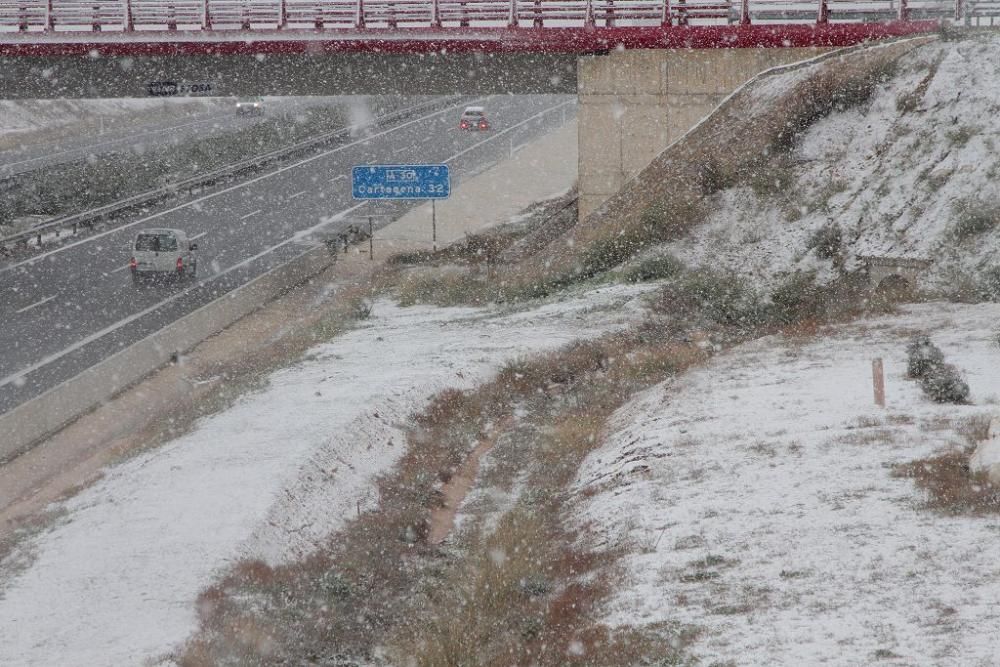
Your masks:
M754 84L757 106L807 72ZM832 275L830 261L810 252L808 240L836 223L848 268L858 256L932 259L927 285L936 286L956 271L995 266L1000 225L964 241L951 231L964 203L1000 210L997 100L1000 37L922 46L900 59L869 102L805 132L787 187L764 196L725 190L710 222L669 249L690 264L728 266L765 282L796 269L822 277Z

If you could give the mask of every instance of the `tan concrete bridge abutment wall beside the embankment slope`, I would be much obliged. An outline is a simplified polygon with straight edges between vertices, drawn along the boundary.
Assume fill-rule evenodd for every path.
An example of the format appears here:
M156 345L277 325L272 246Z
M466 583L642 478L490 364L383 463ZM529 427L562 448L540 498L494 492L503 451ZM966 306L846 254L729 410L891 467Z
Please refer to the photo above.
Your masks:
M582 220L764 70L829 49L612 51L577 62Z

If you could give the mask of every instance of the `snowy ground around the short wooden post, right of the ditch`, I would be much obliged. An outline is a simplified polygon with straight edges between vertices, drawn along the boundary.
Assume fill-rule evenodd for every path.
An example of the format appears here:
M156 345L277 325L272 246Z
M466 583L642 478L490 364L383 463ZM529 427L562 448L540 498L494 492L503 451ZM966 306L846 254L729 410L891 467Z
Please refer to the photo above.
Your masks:
M611 622L704 628L706 663L1000 663L1000 517L935 514L891 475L1000 414L998 322L997 304L930 303L765 338L621 408L578 479L579 521L634 549ZM972 405L905 379L916 332L963 371Z

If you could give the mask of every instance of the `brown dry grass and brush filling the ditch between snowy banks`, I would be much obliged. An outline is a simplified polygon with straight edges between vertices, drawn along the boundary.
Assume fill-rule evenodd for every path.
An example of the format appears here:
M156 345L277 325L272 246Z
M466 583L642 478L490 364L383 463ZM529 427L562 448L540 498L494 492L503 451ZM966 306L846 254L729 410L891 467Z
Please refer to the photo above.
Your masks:
M398 277L387 270L383 288ZM812 335L817 322L863 310L849 290L825 310L808 299L808 307L761 308L738 287L706 300L709 280L728 284L726 276L678 281L629 331L518 360L474 390L439 394L413 418L399 465L378 481L378 507L304 559L236 565L201 596L200 631L180 664L688 661L694 628L621 634L599 621L624 552L598 549L569 527L577 470L636 392L720 346L781 330ZM459 527L436 544L430 525L442 484L485 439L495 445Z

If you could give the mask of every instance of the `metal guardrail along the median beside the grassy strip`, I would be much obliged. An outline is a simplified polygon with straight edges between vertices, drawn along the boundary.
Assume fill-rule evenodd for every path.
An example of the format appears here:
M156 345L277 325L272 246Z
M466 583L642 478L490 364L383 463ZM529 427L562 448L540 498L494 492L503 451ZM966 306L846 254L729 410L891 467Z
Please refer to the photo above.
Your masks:
M405 109L398 109L396 111L391 111L382 116L375 118L369 125L380 125L387 122L392 122L400 118L405 118L407 115L412 113L419 113L426 109L434 108L435 106L440 106L446 108L448 106L454 105L456 102L462 99L462 96L450 96L445 99L431 100L422 104L418 104L413 107L407 107ZM119 213L121 211L128 210L135 206L141 204L148 204L152 202L159 201L171 195L177 194L178 192L188 190L193 190L198 187L205 187L206 185L211 185L223 178L235 176L236 174L250 171L252 169L260 168L270 162L274 162L283 158L287 158L289 155L293 155L297 152L304 150L309 150L316 148L317 146L322 146L323 144L342 137L344 135L350 134L353 130L357 129L356 125L349 125L346 127L340 127L336 130L331 130L330 132L325 132L315 137L310 137L309 139L297 142L290 146L285 146L278 148L276 150L270 151L268 153L263 153L261 155L255 155L251 158L245 160L240 160L239 162L234 162L232 164L220 167L218 169L213 169L212 171L204 172L201 174L195 174L190 178L186 178L182 181L177 181L174 183L167 184L163 187L156 188L155 190L149 190L126 199L120 199L116 202L100 206L98 208L90 209L89 211L84 211L82 213L74 213L73 215L67 215L56 220L51 220L44 224L32 227L31 229L26 229L23 232L18 232L16 234L10 234L0 238L0 247L7 247L11 244L20 243L26 245L28 240L31 238L37 238L39 245L41 245L42 236L53 231L61 231L68 227L73 229L73 234L76 234L80 226L89 226L93 222L96 222L108 215L113 213Z

